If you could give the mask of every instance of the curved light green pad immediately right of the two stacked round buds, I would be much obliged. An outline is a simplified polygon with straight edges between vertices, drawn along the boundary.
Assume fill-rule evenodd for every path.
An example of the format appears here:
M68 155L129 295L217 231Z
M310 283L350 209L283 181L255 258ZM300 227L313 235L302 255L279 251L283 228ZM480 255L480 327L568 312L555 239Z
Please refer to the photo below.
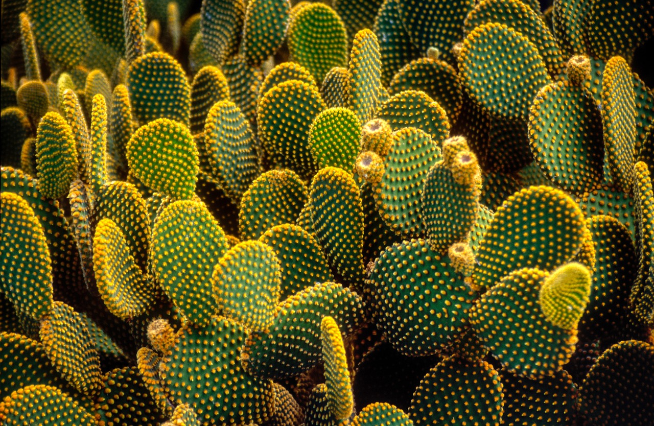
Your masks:
M438 144L424 131L406 127L392 136L379 184L381 218L396 233L415 235L422 227L421 193L430 167L440 159Z

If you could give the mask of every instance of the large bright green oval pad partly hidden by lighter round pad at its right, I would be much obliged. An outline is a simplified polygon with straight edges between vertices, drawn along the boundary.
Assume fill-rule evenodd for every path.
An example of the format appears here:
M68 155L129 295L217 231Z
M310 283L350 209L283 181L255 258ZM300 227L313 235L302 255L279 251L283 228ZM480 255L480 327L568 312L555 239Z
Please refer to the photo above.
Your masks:
M182 316L205 324L215 314L211 273L227 251L225 234L207 207L197 201L175 201L152 227L150 263Z

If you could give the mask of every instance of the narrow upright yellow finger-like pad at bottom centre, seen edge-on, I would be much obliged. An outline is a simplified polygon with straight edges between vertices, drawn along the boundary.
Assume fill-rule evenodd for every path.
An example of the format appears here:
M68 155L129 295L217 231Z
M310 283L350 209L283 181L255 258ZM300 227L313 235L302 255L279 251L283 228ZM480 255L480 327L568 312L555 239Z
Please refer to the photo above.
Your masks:
M334 318L326 316L320 323L322 359L325 368L327 403L337 420L348 419L354 409L350 372L345 357L343 336Z

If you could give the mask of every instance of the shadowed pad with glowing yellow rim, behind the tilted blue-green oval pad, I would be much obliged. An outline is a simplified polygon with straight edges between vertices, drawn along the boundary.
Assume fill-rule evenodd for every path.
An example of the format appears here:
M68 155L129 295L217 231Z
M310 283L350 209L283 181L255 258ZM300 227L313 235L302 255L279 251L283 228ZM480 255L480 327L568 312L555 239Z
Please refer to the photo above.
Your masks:
M191 85L191 133L197 135L204 130L211 106L229 99L230 87L222 71L211 65L203 67Z

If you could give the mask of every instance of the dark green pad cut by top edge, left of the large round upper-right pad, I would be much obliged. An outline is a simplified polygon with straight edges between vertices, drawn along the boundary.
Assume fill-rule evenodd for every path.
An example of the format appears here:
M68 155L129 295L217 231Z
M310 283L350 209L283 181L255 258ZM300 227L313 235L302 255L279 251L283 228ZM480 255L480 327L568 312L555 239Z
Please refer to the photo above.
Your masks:
M428 48L435 47L443 52L443 59L447 61L453 59L450 48L460 41L460 29L474 5L472 0L447 3L398 0L402 23L419 52L424 54Z

